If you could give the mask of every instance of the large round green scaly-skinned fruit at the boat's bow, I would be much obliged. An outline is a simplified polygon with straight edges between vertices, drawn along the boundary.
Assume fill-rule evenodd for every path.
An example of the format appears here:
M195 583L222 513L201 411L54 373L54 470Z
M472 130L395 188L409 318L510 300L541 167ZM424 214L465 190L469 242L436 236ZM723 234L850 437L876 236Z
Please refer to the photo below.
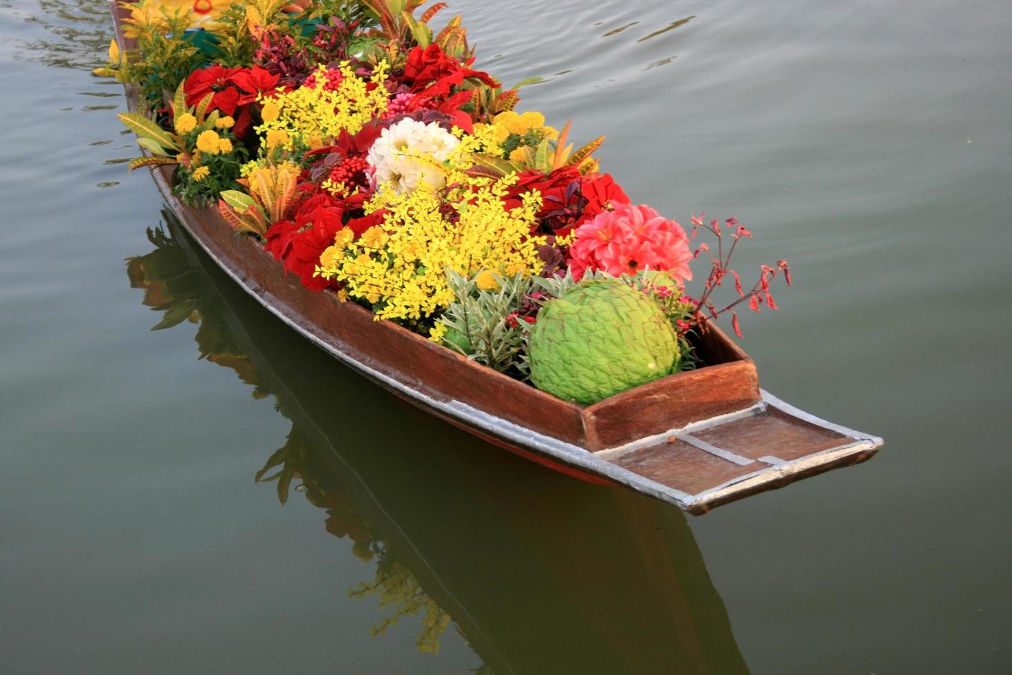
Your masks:
M663 377L679 359L661 309L611 279L585 281L545 303L527 351L534 386L581 405Z

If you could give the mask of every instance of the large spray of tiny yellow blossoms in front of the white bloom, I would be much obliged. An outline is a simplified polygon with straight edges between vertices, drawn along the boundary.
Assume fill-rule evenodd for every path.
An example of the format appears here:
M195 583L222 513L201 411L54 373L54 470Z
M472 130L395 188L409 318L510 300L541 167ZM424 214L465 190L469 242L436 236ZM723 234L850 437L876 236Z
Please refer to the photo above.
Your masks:
M451 186L445 191L381 189L365 209L386 208L384 227L369 228L355 241L349 241L347 228L339 232L317 273L344 281L349 296L373 306L377 320L411 321L441 312L455 300L447 269L462 274L494 269L510 276L539 272L543 264L537 248L545 238L530 232L540 194L523 194L521 205L507 212L503 198L516 182L514 174L492 179L465 173L474 166L473 153L486 150L489 141L488 132L461 139L444 163Z

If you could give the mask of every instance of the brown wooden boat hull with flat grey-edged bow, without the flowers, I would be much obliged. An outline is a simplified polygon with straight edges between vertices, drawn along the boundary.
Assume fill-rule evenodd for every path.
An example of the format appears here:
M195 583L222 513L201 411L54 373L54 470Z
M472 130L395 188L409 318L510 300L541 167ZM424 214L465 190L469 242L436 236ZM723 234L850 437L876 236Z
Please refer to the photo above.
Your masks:
M112 4L121 51L124 10ZM126 88L134 109L135 92ZM314 344L398 396L557 471L627 486L690 513L869 458L881 438L793 408L761 390L755 364L715 327L697 345L706 365L579 406L538 391L401 326L374 321L286 274L217 210L182 203L171 167L152 175L203 250L247 292Z

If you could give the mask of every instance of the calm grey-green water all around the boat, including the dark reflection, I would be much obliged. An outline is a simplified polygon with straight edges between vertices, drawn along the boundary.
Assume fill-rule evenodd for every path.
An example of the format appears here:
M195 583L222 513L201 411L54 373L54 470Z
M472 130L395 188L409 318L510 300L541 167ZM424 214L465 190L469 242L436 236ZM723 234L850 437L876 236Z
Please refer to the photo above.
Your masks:
M634 199L791 262L742 344L884 449L687 519L427 417L125 175L104 4L0 0L0 672L1008 672L1012 6L450 9Z

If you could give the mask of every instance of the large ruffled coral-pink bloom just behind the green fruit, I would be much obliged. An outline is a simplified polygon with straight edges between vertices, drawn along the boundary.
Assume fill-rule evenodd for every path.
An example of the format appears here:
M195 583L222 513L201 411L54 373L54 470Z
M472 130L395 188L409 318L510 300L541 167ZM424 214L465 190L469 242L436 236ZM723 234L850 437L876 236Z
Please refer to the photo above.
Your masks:
M588 269L618 276L647 267L669 272L679 282L692 278L692 254L682 226L647 204L612 202L612 206L614 210L602 212L577 228L569 251L574 278L582 278Z

